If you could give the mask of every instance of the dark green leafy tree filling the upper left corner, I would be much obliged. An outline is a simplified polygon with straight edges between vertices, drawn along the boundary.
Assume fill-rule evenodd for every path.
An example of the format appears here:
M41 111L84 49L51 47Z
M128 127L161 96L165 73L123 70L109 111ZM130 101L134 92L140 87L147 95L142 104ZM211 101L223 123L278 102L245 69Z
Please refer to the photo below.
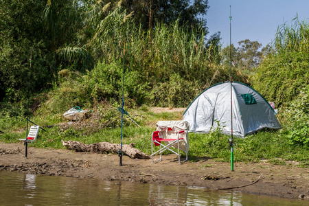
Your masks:
M50 88L57 77L58 49L78 41L84 4L73 0L0 1L0 100L18 101L30 88Z

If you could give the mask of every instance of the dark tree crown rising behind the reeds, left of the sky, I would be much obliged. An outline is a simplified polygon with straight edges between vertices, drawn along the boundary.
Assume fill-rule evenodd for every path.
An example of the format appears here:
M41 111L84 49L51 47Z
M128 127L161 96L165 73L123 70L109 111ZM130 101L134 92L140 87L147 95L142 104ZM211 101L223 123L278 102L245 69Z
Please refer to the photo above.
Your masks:
M108 2L119 5L119 1L104 1ZM207 34L207 22L201 16L207 14L208 0L124 0L121 4L128 13L134 12L135 24L141 24L144 30L151 30L155 23L171 25L179 19L179 25L189 32L201 29Z

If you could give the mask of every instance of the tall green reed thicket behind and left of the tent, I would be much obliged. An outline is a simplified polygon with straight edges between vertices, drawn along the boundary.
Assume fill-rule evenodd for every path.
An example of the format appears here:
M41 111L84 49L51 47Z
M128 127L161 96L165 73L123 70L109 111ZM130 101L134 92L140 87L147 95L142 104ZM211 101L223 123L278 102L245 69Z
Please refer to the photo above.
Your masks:
M115 67L115 75L111 76L120 77L125 69L126 100L132 100L135 105L187 106L211 84L229 80L229 69L213 62L220 54L212 47L206 47L205 39L201 38L204 34L187 32L178 21L172 25L157 23L152 31L144 31L133 23L132 14L126 14L121 7L105 16L101 13L91 16L94 20L89 22L94 31L84 47L92 54L97 66L89 76L99 68L102 68L100 72L111 72L104 69L108 65ZM73 48L60 50L62 58L78 58L76 52L84 52L84 49ZM234 80L247 82L244 80L247 76L242 73L233 74ZM115 91L113 100L119 101L120 98L115 97L121 88L119 82L116 84L104 76L101 79L98 82L105 84L102 88L114 88L111 89ZM109 96L103 98L111 100Z

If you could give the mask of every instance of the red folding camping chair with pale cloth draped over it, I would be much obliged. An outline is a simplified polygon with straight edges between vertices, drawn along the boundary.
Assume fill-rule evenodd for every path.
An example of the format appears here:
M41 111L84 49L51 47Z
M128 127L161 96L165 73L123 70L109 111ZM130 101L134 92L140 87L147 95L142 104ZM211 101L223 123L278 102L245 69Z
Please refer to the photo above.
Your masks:
M187 152L189 152L189 138L187 130L189 129L189 123L186 121L160 121L156 124L157 131L151 135L151 159L152 163L156 161L162 161L162 153L165 150L170 150L178 156L178 162L180 161L180 152L185 152L185 160L187 161ZM154 145L160 146L160 149L154 152ZM172 150L172 147L177 148L177 152ZM160 154L160 159L154 161L153 157L156 154ZM182 162L184 162L182 161Z

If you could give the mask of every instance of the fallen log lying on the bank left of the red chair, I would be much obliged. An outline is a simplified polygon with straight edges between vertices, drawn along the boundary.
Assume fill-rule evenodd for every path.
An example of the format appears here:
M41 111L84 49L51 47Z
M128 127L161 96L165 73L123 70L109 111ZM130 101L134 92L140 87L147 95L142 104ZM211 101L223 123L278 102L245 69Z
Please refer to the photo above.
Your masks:
M76 152L94 152L94 153L117 153L120 148L120 144L112 144L109 142L99 142L95 144L84 144L80 141L62 141L62 145L68 149L75 150ZM148 155L141 150L137 150L134 148L134 145L131 144L123 144L122 145L122 152L128 157L133 159L150 159Z

